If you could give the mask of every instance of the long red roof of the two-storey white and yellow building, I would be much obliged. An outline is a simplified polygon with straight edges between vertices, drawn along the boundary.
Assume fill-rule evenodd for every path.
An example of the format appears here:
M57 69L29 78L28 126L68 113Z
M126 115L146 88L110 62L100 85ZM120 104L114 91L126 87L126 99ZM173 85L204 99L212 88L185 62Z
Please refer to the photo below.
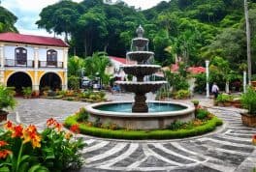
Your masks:
M0 42L29 43L29 44L61 46L61 47L69 46L67 43L63 42L61 39L43 37L43 36L22 35L22 34L16 34L11 32L1 33Z

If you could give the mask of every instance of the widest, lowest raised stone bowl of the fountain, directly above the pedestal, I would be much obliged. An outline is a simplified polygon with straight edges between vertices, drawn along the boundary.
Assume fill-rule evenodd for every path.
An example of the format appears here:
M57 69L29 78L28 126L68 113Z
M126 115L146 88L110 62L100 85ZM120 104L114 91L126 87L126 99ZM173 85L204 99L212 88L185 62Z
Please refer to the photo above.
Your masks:
M144 95L149 92L157 91L163 84L166 84L167 81L116 81L115 83L119 84L121 88L127 92Z

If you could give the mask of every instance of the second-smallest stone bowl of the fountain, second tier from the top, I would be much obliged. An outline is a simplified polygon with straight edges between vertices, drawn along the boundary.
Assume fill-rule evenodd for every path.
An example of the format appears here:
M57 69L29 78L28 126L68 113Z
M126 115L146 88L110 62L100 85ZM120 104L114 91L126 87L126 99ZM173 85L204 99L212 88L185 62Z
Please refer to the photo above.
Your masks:
M137 61L138 64L144 64L146 61L154 55L151 51L132 51L126 54L130 60Z

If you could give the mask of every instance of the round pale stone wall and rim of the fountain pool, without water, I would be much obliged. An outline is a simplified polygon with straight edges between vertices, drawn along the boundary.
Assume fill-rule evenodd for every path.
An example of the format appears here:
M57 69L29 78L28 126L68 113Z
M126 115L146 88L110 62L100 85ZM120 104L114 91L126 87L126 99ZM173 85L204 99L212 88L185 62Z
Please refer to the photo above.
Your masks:
M97 106L122 103L122 102L104 102L88 105L87 112L90 114L88 120L95 122L97 119L103 125L115 124L122 129L166 129L175 121L189 122L195 118L195 108L183 103L168 102L180 104L186 109L170 112L153 113L124 113L112 112L95 109ZM167 102L166 102L167 103Z

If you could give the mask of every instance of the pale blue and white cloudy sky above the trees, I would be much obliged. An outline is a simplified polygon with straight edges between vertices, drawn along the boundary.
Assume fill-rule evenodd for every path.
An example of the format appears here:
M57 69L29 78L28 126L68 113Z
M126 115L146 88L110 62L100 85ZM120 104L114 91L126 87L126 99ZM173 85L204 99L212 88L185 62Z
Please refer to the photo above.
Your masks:
M35 22L40 19L39 14L43 8L48 5L54 4L59 0L1 0L1 6L5 7L18 17L16 28L20 34L40 35L40 36L53 36L48 34L44 29L38 29ZM80 2L82 0L73 0ZM113 0L114 1L114 0ZM162 0L123 0L129 6L142 8L143 10L149 9ZM168 1L168 0L165 0Z

